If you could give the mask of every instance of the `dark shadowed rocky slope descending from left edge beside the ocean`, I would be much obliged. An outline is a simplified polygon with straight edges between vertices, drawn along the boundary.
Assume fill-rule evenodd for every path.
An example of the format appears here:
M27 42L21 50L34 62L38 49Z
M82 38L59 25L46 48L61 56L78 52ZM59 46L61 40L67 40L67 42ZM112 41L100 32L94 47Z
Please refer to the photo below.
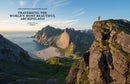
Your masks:
M18 63L29 60L30 56L18 45L0 35L0 60Z

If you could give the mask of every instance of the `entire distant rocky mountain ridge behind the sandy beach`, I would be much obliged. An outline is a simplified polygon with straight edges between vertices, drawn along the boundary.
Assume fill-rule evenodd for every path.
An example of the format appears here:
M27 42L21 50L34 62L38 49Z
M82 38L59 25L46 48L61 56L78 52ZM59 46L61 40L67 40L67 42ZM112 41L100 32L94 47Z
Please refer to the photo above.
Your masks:
M34 36L34 41L41 44L60 48L67 48L71 44L78 47L77 49L88 50L94 40L92 32L81 32L74 29L65 30L57 29L51 26L46 26L38 31ZM84 46L86 45L86 46Z

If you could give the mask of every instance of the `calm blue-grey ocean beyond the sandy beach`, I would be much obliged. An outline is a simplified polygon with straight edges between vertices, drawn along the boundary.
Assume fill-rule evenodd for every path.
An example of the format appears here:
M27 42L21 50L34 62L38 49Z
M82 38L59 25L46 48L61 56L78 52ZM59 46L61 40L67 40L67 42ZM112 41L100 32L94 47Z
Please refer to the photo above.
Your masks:
M31 36L34 36L35 33L36 31L0 32L0 34L2 34L5 38L30 53L46 48L46 46L41 46L33 41L34 38L31 38Z

